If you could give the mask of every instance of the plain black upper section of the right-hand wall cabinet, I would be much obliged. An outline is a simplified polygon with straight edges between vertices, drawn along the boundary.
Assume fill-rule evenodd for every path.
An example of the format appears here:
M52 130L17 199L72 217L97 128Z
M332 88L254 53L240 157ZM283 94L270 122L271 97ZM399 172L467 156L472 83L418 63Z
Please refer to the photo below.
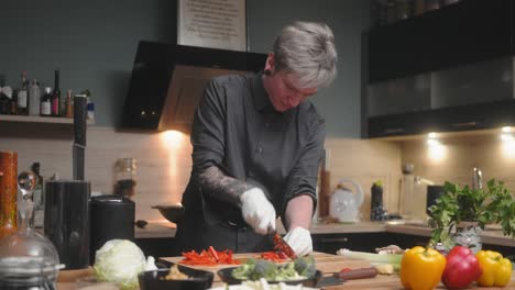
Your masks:
M369 81L379 82L509 55L513 0L462 0L372 29Z

